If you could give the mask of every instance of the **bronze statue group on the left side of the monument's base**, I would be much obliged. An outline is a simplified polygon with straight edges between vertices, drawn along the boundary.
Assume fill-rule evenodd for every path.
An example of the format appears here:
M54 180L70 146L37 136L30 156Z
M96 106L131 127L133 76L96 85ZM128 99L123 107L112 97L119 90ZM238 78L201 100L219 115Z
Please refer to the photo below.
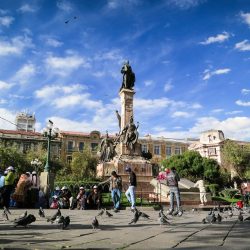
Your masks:
M114 154L114 142L106 132L106 136L101 141L100 160L102 162L110 161L113 159Z

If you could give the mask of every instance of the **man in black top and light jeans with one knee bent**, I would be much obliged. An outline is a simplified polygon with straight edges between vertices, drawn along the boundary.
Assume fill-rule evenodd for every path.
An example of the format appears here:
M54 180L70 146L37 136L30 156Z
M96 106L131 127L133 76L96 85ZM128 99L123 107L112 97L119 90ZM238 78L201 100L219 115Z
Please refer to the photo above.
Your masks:
M129 186L125 195L131 204L131 210L134 211L136 207L136 198L135 198L135 191L136 191L136 174L132 171L131 167L127 166L125 171L129 174Z

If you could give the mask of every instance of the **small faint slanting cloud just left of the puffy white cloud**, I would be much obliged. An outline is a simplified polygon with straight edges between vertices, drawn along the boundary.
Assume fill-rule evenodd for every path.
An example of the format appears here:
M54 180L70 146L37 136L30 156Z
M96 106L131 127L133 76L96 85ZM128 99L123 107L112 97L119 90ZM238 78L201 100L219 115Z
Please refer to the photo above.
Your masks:
M35 76L36 74L36 67L34 64L29 63L29 64L25 64L22 66L22 68L20 68L17 73L14 75L14 77L12 78L12 80L14 82L18 82L20 84L25 84L28 81L30 81L30 79Z

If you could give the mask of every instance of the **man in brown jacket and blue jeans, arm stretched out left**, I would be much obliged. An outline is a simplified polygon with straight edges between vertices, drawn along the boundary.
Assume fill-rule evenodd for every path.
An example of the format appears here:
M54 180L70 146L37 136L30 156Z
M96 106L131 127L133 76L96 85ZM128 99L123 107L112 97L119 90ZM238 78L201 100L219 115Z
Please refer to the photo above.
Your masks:
M116 173L111 172L111 176L104 182L99 183L102 185L109 182L109 191L111 192L112 201L114 204L114 212L120 209L121 195L122 195L122 177Z

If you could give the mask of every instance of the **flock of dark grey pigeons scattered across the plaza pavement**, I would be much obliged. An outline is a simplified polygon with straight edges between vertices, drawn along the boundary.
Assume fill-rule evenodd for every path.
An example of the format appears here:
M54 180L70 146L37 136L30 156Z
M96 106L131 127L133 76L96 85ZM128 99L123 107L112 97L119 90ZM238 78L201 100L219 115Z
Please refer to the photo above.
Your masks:
M193 208L191 210L193 213L197 211L197 208ZM234 214L237 216L238 215L238 221L239 222L243 222L243 221L250 221L250 216L245 217L245 215L249 215L250 214L250 208L245 207L244 209L239 209L237 207L232 207L232 206L228 206L228 207L224 207L223 209L219 207L214 207L213 209L210 209L209 213L207 214L207 216L202 219L202 223L206 224L206 223L221 223L222 220L226 220L228 218L232 218L234 216ZM5 220L9 220L9 215L11 215L11 212L9 209L7 209L6 207L3 208L3 213L2 216ZM61 210L58 208L56 213L52 216L46 217L44 210L40 207L38 210L38 215L41 218L45 218L47 220L47 222L55 223L57 225L59 225L59 228L61 229L67 229L69 224L70 224L70 217L69 216L63 216L61 213ZM111 214L110 212L108 212L106 209L101 209L101 211L94 217L91 226L93 229L97 229L99 228L99 221L97 219L97 217L106 215L108 217L112 217L113 214ZM245 218L244 218L245 217ZM138 220L140 218L144 218L147 220L150 220L150 216L147 215L144 212L139 211L138 209L134 209L133 211L133 218L131 219L131 221L128 223L129 225L131 224L136 224L138 222ZM162 225L170 225L169 222L169 218L167 217L167 215L164 214L163 212L163 208L161 208L161 210L159 211L159 224ZM33 214L28 214L27 211L25 211L24 214L20 215L19 218L14 219L13 223L14 223L14 227L17 226L23 226L23 227L27 227L29 224L33 223L36 221L36 217Z

